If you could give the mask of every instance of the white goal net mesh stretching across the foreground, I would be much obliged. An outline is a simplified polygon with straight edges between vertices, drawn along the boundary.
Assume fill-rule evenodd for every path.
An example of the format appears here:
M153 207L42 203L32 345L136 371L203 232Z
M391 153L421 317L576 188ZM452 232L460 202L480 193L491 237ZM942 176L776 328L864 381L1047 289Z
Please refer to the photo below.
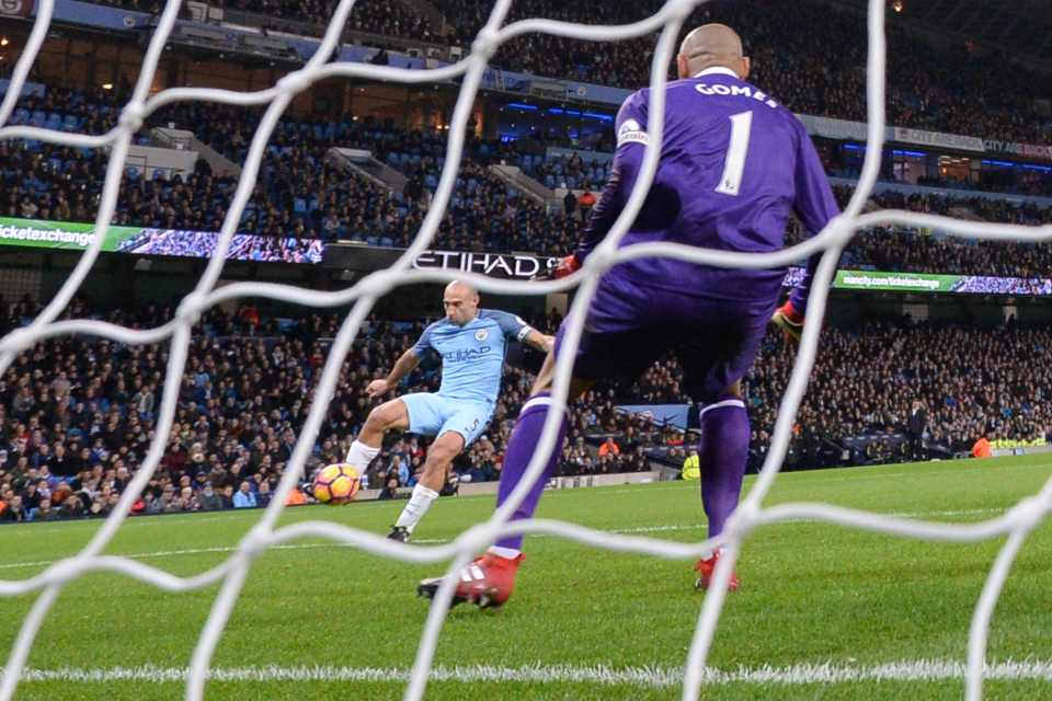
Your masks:
M142 487L146 486L160 462L167 437L172 427L178 400L178 392L163 393L163 401L157 422L156 437L150 445L142 467L135 475L128 489L122 494L121 501L114 508L112 515L105 520L88 545L85 545L79 554L52 565L37 576L26 579L0 582L0 594L4 596L24 595L42 589L39 597L22 623L13 650L8 658L2 685L0 685L0 701L7 701L13 697L36 634L61 588L68 582L88 572L110 571L122 573L168 591L185 591L221 583L219 595L213 605L207 622L197 640L186 681L186 698L197 700L204 696L205 681L213 653L238 599L252 561L266 548L299 538L321 537L362 548L370 553L408 562L439 562L451 560L448 572L454 573L465 565L476 552L493 542L500 536L512 532L547 533L595 548L645 553L678 560L696 559L702 552L713 547L724 547L727 556L719 561L714 575L714 585L710 588L706 597L686 660L683 699L694 700L698 698L701 685L707 678L705 665L709 646L711 645L713 632L722 609L725 586L741 551L743 538L748 531L762 525L788 519L817 519L905 538L957 542L977 541L1007 535L1008 539L991 568L982 595L976 604L969 636L967 697L972 700L980 699L982 697L982 679L985 666L986 636L990 619L994 606L997 602L1002 585L1022 542L1044 518L1047 512L1052 508L1052 481L1048 482L1040 493L1024 499L1003 516L973 525L917 521L839 508L825 504L784 504L766 509L762 508L761 504L770 490L781 467L790 438L792 421L796 417L797 409L800 405L807 387L808 376L814 364L821 321L825 312L826 298L835 272L836 261L856 229L876 225L938 227L940 230L950 232L953 235L1033 242L1052 240L1052 226L1028 228L1007 225L984 225L899 210L881 210L868 215L860 214L862 205L868 198L877 179L884 137L884 2L883 0L870 0L867 87L869 114L868 148L866 150L865 165L858 187L843 216L831 222L826 230L820 235L792 249L777 253L745 254L727 251L698 250L667 243L634 245L618 251L618 241L625 234L629 225L634 219L636 214L639 211L645 192L656 170L664 124L665 100L663 87L666 82L666 67L673 58L674 45L685 19L694 9L694 5L700 1L704 0L670 0L656 14L641 22L628 25L583 26L573 23L534 19L515 22L502 27L501 25L503 24L504 18L511 8L511 0L498 0L490 14L489 21L479 32L472 45L472 51L467 58L458 64L441 69L408 70L361 64L325 62L336 48L340 33L354 4L354 0L341 0L318 53L315 54L302 69L286 76L278 81L274 88L252 93L179 88L164 90L153 97L147 99L149 87L157 71L158 60L168 36L172 31L180 7L179 0L169 0L158 23L157 31L150 41L132 99L121 113L118 126L107 134L89 136L27 126L2 126L7 123L14 108L30 68L48 32L54 10L54 0L39 0L37 2L37 15L33 31L25 50L15 66L7 96L2 105L0 105L0 139L37 139L67 146L111 149L105 185L103 187L99 214L95 219L95 231L105 231L112 219L125 160L128 154L128 147L134 134L140 128L142 119L147 115L168 103L191 100L205 100L235 105L266 103L268 106L252 139L252 145L243 165L241 182L238 184L230 209L224 221L219 244L217 245L215 254L209 260L208 266L197 287L183 299L174 319L163 326L146 331L135 331L90 320L72 320L57 323L54 321L65 309L95 263L103 242L103 237L96 235L92 244L84 251L66 284L39 317L34 320L31 325L9 333L0 341L0 372L3 372L11 365L18 353L34 343L54 336L78 333L107 337L127 344L158 343L171 337L171 354L169 356L164 381L165 387L176 387L183 375L186 361L191 340L191 327L202 311L214 304L240 297L264 297L311 307L335 307L352 302L354 306L332 345L332 350L329 354L321 380L318 384L316 401L311 404L307 422L298 437L296 449L291 459L288 461L275 498L271 502L260 521L252 528L248 536L242 539L236 552L231 554L228 560L213 570L185 578L171 575L162 570L145 565L127 558L100 554L124 522L134 501ZM487 61L500 44L514 36L529 32L549 33L592 42L609 42L640 36L659 30L661 31L661 35L651 67L651 85L654 88L651 92L649 106L651 114L650 123L652 124L651 145L647 147L642 171L621 216L610 229L605 241L588 256L587 263L582 271L570 278L559 281L515 283L499 281L473 274L465 275L462 273L451 274L441 271L425 272L412 269L412 261L431 243L449 202L460 163L470 108L478 93L479 82L485 70ZM255 185L260 162L278 118L298 92L307 89L318 80L341 76L402 83L433 82L462 77L462 87L456 102L449 128L446 163L443 168L433 205L421 227L420 234L390 269L369 275L346 290L320 294L318 291L291 286L264 283L242 283L216 289L216 283L222 271L225 253L230 245L236 227L241 220L241 214ZM581 320L584 319L582 312L592 299L598 276L605 269L621 261L653 255L673 256L697 263L708 263L734 268L776 267L788 265L802 257L823 251L824 255L815 276L813 291L808 306L810 321L804 330L799 357L793 368L789 387L781 402L766 462L764 463L759 479L742 501L733 518L728 524L727 530L720 538L688 544L651 538L619 536L562 521L533 520L515 524L507 522L508 516L522 502L528 487L541 474L546 458L554 448L556 428L562 413L565 411L565 397L572 370L571 359L574 356L572 350L576 348L581 337ZM483 291L505 295L545 295L568 289L579 283L581 285L570 314L570 318L576 320L576 323L568 325L564 340L564 343L571 352L562 354L557 364L554 390L552 393L553 411L548 414L538 450L535 452L522 483L516 487L507 502L494 513L489 521L470 528L461 533L454 542L443 545L405 545L382 539L374 533L324 521L300 522L283 528L275 528L286 497L302 473L305 461L310 453L310 448L318 434L319 426L327 411L327 405L332 398L343 359L362 322L366 319L377 299L399 285L422 281L447 281L454 277L467 277ZM449 609L454 584L455 577L447 577L432 604L420 641L410 682L405 690L405 699L420 699L424 693L435 646Z

